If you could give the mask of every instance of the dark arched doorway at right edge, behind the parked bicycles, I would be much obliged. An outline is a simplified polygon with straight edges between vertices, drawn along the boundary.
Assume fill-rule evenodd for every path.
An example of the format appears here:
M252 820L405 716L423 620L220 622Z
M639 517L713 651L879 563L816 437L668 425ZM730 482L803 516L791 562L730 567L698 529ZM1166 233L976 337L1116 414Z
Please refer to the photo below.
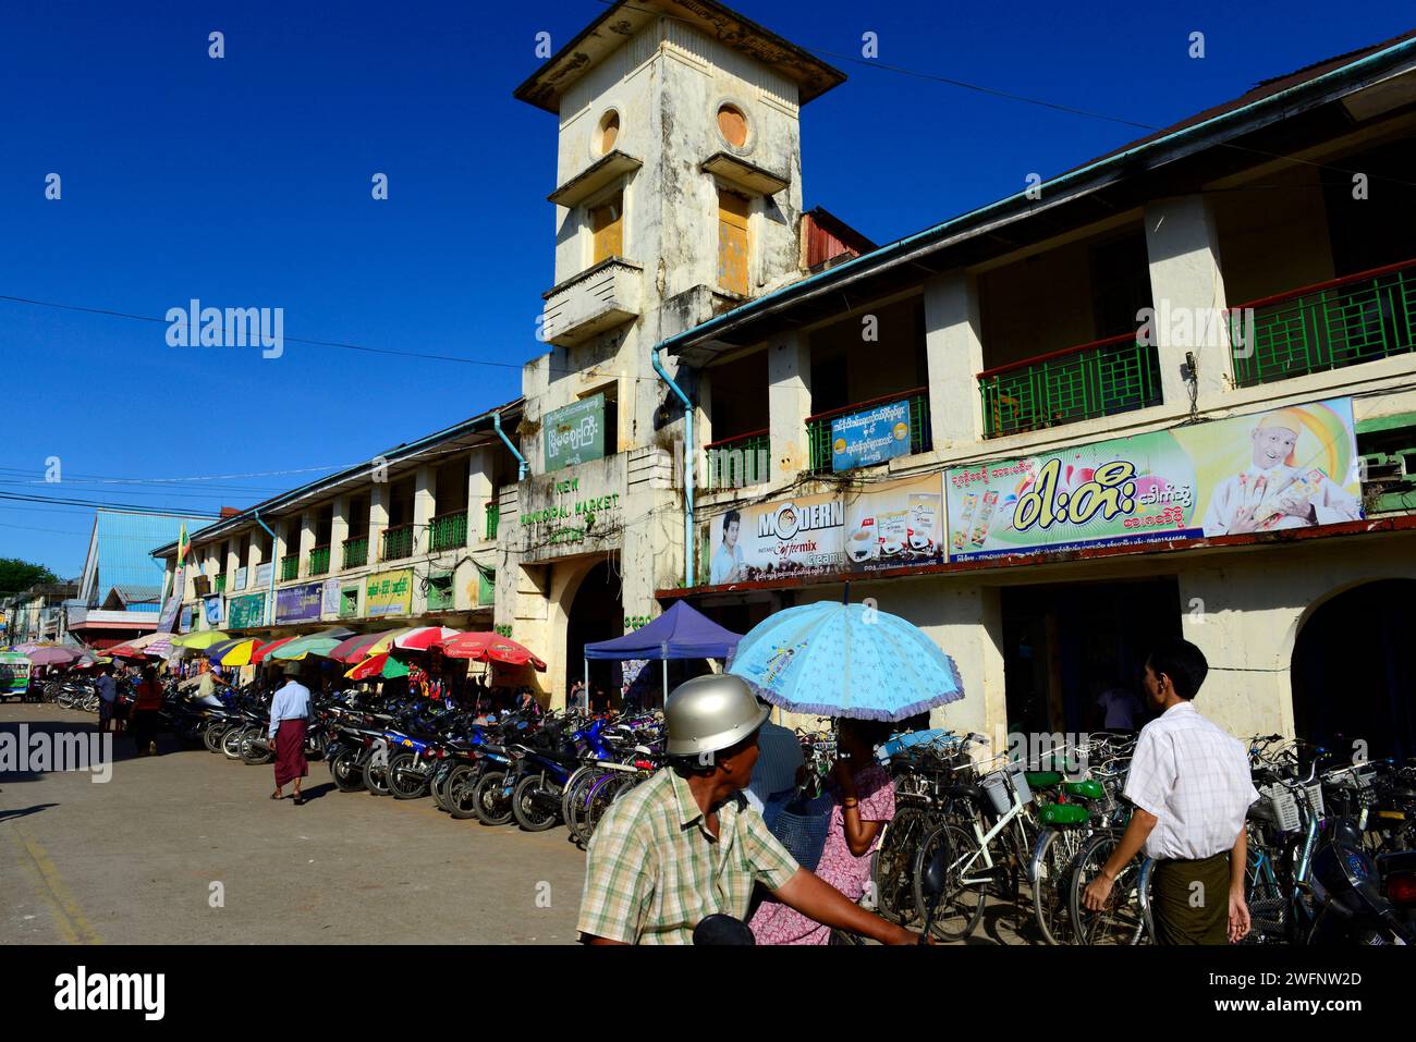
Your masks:
M1416 634L1416 579L1383 579L1320 605L1293 644L1298 738L1372 757L1416 756L1416 681L1403 668Z

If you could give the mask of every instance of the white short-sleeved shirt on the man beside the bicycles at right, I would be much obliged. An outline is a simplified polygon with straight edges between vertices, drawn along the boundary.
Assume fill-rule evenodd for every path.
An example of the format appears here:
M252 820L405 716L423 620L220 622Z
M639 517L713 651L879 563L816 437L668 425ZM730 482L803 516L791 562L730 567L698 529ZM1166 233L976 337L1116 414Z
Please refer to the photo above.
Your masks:
M1189 861L1232 849L1259 798L1243 742L1189 702L1141 728L1124 794L1157 818L1146 855Z

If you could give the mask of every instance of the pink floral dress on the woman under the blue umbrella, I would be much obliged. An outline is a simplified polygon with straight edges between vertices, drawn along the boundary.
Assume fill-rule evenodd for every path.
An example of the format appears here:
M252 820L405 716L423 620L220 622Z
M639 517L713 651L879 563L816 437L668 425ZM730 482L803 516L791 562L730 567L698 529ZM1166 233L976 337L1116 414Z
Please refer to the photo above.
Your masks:
M855 794L860 798L861 821L884 823L895 817L895 783L884 767L871 765L855 776ZM882 830L884 831L884 830ZM831 807L831 825L821 851L821 862L816 874L831 883L851 900L860 900L865 883L871 878L871 855L879 847L881 834L875 834L871 848L861 857L851 854L845 842L845 818L841 811L841 796L835 793ZM758 906L748 923L758 944L827 944L831 927L807 919L796 909L767 898Z

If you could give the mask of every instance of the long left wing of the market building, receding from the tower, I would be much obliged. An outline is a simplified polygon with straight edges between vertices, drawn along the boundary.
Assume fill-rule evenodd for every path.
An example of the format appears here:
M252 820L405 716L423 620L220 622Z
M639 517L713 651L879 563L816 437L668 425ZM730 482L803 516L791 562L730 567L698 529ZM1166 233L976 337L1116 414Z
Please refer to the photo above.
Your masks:
M493 627L498 490L517 462L498 430L520 402L388 449L190 531L180 586L177 539L161 597L178 631L290 636L439 624ZM176 592L174 592L176 590Z

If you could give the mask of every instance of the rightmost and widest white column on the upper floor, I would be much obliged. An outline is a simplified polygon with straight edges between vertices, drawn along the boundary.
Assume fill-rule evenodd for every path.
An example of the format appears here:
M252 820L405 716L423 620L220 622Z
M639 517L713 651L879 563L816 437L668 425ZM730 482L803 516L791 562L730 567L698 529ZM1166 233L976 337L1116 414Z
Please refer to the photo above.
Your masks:
M1185 353L1194 351L1199 364L1198 406L1218 406L1232 375L1232 361L1223 321L1219 232L1208 200L1185 195L1146 207L1146 252L1165 405L1189 408Z

